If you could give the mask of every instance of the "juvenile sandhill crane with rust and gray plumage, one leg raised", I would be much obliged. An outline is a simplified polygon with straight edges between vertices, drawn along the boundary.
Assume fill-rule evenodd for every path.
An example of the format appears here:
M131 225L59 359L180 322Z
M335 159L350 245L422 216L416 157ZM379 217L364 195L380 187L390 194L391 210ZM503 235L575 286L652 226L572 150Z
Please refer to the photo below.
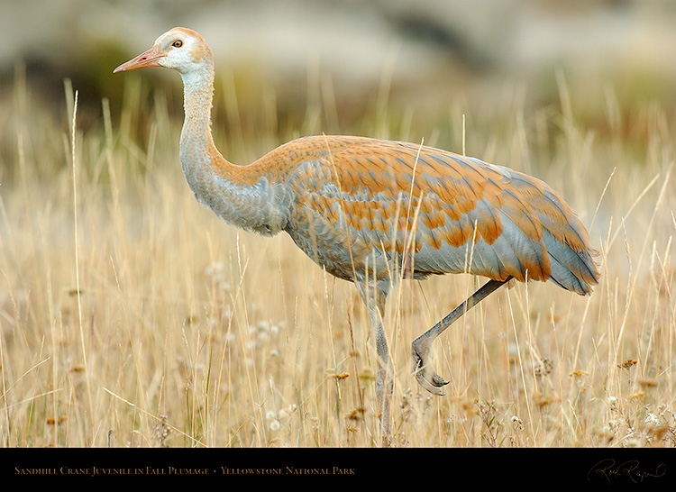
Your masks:
M598 283L588 232L536 178L445 150L352 136L300 138L236 166L212 139L214 62L202 37L174 28L114 72L145 67L173 68L183 79L180 162L197 201L244 230L287 232L327 272L356 285L376 333L384 443L393 381L382 318L399 278L489 278L411 344L416 380L436 395L447 382L428 365L431 343L508 280L552 280L580 295Z

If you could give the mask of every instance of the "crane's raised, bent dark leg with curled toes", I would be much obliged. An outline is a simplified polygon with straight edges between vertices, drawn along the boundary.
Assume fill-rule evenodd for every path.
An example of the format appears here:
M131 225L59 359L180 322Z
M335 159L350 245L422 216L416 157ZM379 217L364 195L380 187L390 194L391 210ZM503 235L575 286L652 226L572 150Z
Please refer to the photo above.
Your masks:
M411 352L413 353L413 370L416 375L416 380L420 383L420 386L424 387L430 393L434 395L445 395L440 389L441 387L448 384L448 381L444 381L441 376L436 374L427 364L427 358L430 351L430 346L434 339L438 337L443 331L458 321L462 314L467 313L470 308L478 305L484 298L489 296L492 292L497 290L503 284L507 284L512 277L508 277L505 280L489 280L486 282L479 290L472 294L465 302L452 310L451 313L446 315L442 321L436 323L428 331L420 335L416 340L411 343Z

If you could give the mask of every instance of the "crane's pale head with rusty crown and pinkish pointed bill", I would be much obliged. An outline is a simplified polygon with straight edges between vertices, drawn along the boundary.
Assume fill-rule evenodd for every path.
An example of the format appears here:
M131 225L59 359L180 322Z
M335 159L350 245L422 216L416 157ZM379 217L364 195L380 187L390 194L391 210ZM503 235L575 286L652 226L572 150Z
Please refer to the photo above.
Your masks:
M211 51L202 36L184 27L175 27L162 34L150 50L123 63L113 73L146 67L174 68L181 73L190 73L203 67L205 62L211 64Z

